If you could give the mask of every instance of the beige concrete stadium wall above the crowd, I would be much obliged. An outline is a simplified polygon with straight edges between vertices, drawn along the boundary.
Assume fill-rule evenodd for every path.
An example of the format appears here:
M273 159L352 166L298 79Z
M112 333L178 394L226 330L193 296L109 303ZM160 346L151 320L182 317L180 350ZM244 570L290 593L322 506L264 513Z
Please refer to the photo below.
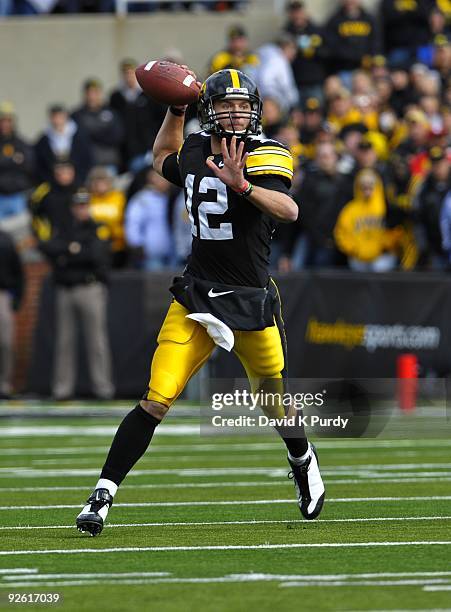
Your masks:
M310 0L312 14L323 19L338 0ZM377 0L368 0L374 7ZM22 17L0 20L0 100L17 109L19 129L35 138L46 122L50 103L78 105L82 82L100 78L110 90L117 84L124 57L145 61L177 48L199 75L208 59L225 43L227 28L242 23L255 48L274 38L284 21L272 3L254 2L245 13L156 13Z

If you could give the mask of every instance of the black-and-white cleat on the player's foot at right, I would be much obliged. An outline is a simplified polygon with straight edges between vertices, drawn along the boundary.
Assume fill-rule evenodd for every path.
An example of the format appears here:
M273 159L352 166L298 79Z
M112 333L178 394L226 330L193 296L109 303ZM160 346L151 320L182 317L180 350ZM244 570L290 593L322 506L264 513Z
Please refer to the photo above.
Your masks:
M288 478L291 478L294 482L302 516L311 521L319 516L326 493L319 471L316 448L310 442L309 444L311 454L303 465L294 465L288 458L288 463L291 466Z

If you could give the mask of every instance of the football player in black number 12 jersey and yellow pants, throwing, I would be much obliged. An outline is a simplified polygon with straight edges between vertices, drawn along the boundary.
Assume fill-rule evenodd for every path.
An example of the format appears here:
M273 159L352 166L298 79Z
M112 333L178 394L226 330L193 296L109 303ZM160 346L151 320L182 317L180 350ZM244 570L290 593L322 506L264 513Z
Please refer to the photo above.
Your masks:
M101 532L118 486L215 342L223 346L232 337L254 392L281 389L287 376L280 298L268 263L276 222L298 215L289 195L291 154L260 136L262 101L254 82L237 70L221 70L203 83L202 131L185 141L184 114L184 107L169 108L153 153L157 172L185 188L192 253L171 287L175 299L158 335L148 390L120 424L96 488L77 517L78 529L91 535ZM303 428L296 436L282 427L278 433L287 446L301 513L314 519L325 495L316 450Z

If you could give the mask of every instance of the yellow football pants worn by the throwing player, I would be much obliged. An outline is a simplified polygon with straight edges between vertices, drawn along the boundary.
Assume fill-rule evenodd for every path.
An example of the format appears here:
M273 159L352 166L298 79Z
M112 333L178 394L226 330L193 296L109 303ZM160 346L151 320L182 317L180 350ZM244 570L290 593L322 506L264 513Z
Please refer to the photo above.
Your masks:
M145 399L170 406L188 380L210 357L215 343L202 325L187 319L189 311L175 300L171 303L158 334L158 347L151 366ZM279 379L276 387L283 393L285 335L274 325L261 331L234 331L234 352L243 364L251 389L255 392L267 379ZM274 391L274 388L271 389Z

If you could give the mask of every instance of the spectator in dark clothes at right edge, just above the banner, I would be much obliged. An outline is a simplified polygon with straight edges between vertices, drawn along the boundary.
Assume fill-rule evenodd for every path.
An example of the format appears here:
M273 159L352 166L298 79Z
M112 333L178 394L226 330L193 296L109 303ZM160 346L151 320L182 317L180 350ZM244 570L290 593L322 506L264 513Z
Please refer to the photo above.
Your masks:
M428 157L430 171L418 189L414 209L423 263L441 270L448 265L442 246L440 218L446 195L451 189L451 169L446 151L441 147L432 147Z

